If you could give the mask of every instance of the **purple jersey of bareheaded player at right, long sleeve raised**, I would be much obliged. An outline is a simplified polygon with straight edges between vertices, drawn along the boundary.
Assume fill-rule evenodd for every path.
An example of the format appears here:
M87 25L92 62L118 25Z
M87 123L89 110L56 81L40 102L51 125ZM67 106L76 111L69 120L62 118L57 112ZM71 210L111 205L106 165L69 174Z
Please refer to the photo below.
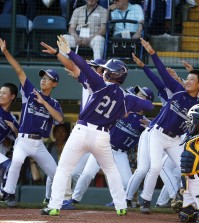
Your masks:
M199 103L199 98L190 96L184 87L171 77L157 54L152 55L152 59L165 86L173 94L158 115L156 124L175 135L183 135L187 130L185 122L188 120L187 112L193 105Z

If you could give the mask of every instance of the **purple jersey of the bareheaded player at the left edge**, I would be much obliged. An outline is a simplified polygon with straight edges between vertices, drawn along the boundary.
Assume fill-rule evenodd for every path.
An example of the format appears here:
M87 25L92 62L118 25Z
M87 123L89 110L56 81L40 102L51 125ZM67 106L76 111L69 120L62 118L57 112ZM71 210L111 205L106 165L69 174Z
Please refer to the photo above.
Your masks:
M5 123L5 120L8 120L14 124L14 126L19 129L18 122L15 118L15 116L11 112L5 111L1 106L0 106L0 143L8 137L8 136L13 136L16 138L14 132L11 130L11 128Z

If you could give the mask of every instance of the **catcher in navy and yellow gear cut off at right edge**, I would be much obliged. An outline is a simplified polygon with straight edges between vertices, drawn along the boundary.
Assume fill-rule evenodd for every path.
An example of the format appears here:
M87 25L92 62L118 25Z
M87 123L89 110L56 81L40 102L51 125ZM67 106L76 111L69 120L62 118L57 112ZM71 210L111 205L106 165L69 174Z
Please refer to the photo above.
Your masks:
M199 223L199 104L190 108L188 136L181 154L181 173L184 186L183 207L179 212L181 222Z

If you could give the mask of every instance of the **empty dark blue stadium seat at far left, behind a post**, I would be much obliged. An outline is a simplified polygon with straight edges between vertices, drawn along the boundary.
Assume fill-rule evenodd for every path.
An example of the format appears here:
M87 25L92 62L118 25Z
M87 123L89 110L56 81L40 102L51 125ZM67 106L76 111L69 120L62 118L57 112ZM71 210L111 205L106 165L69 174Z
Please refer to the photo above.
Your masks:
M8 48L11 46L11 29L13 18L10 14L0 14L0 36L6 40ZM14 55L21 56L28 49L28 19L24 15L16 15L15 49Z

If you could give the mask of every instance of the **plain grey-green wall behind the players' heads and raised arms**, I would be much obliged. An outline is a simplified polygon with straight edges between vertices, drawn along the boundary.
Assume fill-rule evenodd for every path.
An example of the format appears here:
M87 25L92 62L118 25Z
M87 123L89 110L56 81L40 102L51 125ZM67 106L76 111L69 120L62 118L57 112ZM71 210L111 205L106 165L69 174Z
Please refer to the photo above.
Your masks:
M53 68L60 74L60 81L57 88L53 90L52 97L56 99L68 99L68 100L80 100L81 99L81 86L80 84L69 76L62 66L23 66L28 78L31 82L35 85L36 88L39 88L39 76L38 72L40 69L48 69ZM152 70L156 72L156 69L152 68ZM186 78L187 72L186 70L176 70L178 75L182 78ZM8 65L0 64L0 85L4 82L12 82L19 85L19 81L17 78L16 73L14 70ZM147 86L154 91L156 95L155 101L159 102L157 98L157 90L155 89L154 85L151 81L146 77L144 72L140 69L130 69L128 72L127 79L122 87L126 88L131 85L140 85L140 86ZM20 94L19 94L20 97Z

